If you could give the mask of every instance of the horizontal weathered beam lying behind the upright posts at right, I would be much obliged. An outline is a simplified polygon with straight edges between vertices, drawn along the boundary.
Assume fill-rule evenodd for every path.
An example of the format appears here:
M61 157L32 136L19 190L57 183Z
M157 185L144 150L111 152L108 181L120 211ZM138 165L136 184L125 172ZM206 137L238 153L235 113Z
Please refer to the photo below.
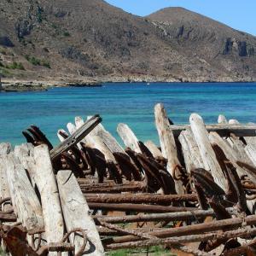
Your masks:
M172 125L171 130L174 137L178 137L181 131L186 130L189 125ZM255 137L256 125L241 125L241 124L213 124L206 125L208 132L216 131L220 137L228 137L230 133L236 134L237 137Z

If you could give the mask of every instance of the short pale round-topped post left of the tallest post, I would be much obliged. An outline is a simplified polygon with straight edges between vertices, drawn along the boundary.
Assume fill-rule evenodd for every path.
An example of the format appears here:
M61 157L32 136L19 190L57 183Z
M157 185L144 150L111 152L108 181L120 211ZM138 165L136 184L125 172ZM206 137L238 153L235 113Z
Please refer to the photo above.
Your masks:
M117 132L119 134L119 137L121 137L121 139L125 143L126 147L131 148L137 153L142 153L142 150L138 145L138 139L128 125L119 124L117 127Z

